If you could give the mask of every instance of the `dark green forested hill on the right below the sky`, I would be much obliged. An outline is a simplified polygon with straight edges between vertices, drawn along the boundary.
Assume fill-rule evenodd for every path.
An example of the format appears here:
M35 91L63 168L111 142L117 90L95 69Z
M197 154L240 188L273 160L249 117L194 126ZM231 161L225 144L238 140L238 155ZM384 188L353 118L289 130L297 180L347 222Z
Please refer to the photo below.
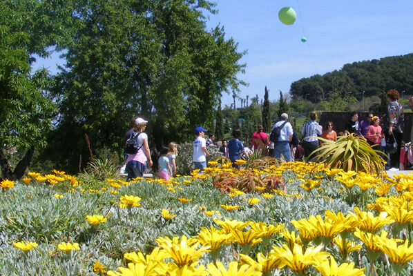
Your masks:
M390 89L412 94L413 54L347 63L341 70L294 81L290 91L294 99L318 102L332 95L361 99L363 91L369 97Z

